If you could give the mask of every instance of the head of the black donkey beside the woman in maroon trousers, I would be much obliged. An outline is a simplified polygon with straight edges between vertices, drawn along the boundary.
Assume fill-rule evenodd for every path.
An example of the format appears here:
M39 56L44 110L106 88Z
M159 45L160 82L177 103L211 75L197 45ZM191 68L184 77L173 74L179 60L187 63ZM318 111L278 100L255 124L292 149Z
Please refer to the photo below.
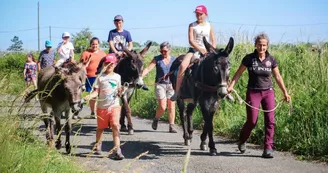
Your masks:
M234 40L230 37L226 48L219 50L209 44L205 37L203 37L203 41L207 52L209 52L209 55L206 58L207 63L204 61L204 69L206 70L206 72L204 71L204 74L206 74L209 79L213 79L213 82L218 86L218 96L223 98L228 94L227 84L230 72L229 54L234 47Z

